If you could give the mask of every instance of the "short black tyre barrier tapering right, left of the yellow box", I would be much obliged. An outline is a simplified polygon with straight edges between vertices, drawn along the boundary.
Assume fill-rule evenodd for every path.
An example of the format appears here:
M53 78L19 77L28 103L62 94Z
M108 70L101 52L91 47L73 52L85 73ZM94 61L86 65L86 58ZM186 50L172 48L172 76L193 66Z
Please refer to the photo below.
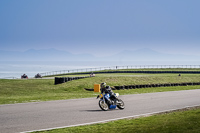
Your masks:
M78 79L83 79L83 78L89 78L90 76L85 76L85 77L55 77L55 85L57 84L62 84L68 81L72 80L78 80Z

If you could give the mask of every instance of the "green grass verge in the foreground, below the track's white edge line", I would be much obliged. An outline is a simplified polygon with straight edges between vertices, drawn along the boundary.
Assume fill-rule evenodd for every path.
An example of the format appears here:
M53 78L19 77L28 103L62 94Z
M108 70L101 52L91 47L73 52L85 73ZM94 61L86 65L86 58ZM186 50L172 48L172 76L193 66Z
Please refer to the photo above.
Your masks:
M199 133L200 108L36 133Z

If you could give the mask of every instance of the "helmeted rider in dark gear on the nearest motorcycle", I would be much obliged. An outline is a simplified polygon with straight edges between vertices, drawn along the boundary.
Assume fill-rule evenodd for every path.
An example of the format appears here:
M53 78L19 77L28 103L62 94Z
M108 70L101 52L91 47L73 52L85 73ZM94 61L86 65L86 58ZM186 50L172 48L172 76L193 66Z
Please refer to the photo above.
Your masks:
M113 100L115 100L117 97L115 96L115 93L112 91L112 89L111 89L111 87L110 86L106 86L106 83L104 82L104 83L101 83L101 93L103 94L103 93L108 93L108 94L110 94L110 99L113 99ZM109 101L110 102L110 104L112 104L111 103L111 101Z

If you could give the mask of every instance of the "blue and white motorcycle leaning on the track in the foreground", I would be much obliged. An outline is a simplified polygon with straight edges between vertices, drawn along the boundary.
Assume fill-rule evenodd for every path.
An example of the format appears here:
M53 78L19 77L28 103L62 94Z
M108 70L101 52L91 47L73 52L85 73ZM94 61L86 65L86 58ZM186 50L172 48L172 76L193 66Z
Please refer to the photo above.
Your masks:
M107 111L109 109L116 109L116 107L121 110L124 109L124 102L118 98L119 93L115 93L114 95L116 97L115 99L111 98L110 94L108 93L98 95L97 99L100 98L99 107L104 111Z

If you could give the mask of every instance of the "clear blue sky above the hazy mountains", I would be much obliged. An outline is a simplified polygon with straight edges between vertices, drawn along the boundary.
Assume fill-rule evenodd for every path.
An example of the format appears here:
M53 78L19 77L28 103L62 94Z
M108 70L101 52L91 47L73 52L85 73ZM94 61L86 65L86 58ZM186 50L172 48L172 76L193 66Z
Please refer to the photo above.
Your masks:
M0 50L200 55L199 0L1 0Z

